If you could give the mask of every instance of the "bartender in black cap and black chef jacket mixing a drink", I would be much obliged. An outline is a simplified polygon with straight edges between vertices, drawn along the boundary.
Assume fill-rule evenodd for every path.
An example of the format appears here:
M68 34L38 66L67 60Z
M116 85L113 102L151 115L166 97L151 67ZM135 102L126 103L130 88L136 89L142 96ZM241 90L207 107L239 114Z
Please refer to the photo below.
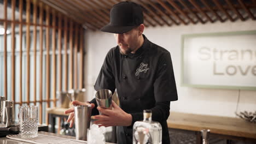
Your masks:
M178 99L170 52L152 43L142 34L143 11L133 2L120 2L110 10L110 23L102 32L114 33L117 46L107 53L95 90L117 89L120 107L113 102L113 110L97 107L90 102L73 101L74 105L91 104L94 123L117 127L118 143L132 143L132 126L143 120L143 110L152 110L152 120L162 126L162 143L170 143L167 118L170 101ZM104 115L98 115L98 111ZM73 126L73 108L67 122Z

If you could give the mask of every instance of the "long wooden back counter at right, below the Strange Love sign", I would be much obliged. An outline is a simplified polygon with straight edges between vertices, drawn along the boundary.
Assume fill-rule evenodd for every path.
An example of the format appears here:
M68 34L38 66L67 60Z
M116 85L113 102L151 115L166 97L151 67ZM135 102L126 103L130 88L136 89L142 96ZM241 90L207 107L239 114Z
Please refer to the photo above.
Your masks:
M202 129L210 129L210 137L225 139L226 143L232 140L256 143L256 123L241 118L170 112L167 124L170 130L195 132L196 143L201 143Z

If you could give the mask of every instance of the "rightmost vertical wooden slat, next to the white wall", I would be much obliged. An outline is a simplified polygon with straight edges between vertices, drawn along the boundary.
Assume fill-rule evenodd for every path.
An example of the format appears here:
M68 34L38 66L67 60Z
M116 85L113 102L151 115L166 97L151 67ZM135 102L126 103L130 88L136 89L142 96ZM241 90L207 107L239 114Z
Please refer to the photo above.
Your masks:
M80 27L80 41L79 41L79 53L80 53L80 65L79 65L79 89L83 88L84 80L84 29Z

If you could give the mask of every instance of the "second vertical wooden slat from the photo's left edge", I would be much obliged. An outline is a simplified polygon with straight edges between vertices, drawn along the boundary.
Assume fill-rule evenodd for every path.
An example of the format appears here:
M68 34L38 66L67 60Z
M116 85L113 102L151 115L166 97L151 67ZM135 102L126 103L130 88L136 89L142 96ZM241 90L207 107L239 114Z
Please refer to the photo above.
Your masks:
M15 20L16 0L11 1L12 19ZM15 101L15 23L11 23L11 100Z

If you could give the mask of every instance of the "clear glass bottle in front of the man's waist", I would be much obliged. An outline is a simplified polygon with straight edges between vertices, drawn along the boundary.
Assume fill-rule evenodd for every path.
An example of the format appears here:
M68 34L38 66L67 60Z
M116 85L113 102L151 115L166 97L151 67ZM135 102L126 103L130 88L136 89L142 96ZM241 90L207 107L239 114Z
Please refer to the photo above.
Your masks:
M152 111L143 111L143 121L133 124L133 144L159 144L162 143L162 126L159 122L152 121Z

